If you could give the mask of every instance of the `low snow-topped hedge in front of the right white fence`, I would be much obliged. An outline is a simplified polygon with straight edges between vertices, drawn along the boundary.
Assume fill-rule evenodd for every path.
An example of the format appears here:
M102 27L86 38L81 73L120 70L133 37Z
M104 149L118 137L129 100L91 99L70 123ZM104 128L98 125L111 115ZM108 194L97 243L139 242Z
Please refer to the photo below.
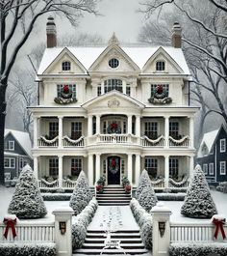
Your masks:
M226 256L227 244L218 243L171 243L169 256Z

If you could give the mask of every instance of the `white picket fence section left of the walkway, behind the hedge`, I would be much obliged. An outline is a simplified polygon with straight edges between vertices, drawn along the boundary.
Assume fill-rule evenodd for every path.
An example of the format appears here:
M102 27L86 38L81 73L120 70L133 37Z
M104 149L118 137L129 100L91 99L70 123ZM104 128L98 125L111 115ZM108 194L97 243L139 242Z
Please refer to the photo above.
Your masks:
M6 225L0 223L0 242L55 242L55 223L38 221L20 221L15 224L16 237L13 239L12 229L7 239L4 232Z

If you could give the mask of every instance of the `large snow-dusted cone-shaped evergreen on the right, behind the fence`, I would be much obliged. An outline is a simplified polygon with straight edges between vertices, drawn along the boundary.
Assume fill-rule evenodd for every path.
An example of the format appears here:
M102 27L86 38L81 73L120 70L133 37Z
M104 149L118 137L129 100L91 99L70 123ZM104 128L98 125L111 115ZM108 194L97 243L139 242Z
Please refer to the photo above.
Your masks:
M197 218L210 218L217 213L209 185L200 165L195 167L181 213Z

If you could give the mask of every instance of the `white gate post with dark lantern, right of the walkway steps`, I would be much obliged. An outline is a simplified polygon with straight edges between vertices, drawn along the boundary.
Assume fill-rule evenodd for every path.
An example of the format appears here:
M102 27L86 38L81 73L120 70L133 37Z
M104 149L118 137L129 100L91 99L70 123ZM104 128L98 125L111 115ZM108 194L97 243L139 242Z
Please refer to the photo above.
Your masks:
M153 215L153 256L168 256L170 245L170 223L171 211L158 203L152 208Z

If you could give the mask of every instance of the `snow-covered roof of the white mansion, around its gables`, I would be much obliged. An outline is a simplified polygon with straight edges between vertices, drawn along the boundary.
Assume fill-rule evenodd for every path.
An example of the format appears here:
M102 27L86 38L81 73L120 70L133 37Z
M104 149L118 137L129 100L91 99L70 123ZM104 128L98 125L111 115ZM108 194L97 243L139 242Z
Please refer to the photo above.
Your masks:
M63 49L68 49L88 70L99 55L106 49L104 46L95 47L53 47L46 48L38 68L38 74L42 74L50 64L61 54ZM120 48L139 66L142 70L148 59L154 55L161 46L120 46ZM172 46L162 46L164 51L176 62L176 64L189 74L189 67L187 65L184 53L181 48Z

